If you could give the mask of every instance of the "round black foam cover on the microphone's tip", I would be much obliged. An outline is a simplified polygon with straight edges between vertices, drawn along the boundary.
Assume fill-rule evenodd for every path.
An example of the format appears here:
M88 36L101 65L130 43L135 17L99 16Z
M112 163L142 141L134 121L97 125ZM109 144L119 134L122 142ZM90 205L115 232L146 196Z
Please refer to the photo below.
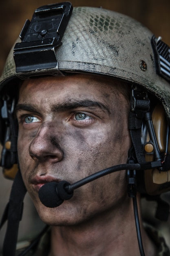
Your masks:
M68 193L65 189L70 183L66 181L48 182L39 190L39 198L46 207L54 208L62 204L64 200L72 198L73 192Z

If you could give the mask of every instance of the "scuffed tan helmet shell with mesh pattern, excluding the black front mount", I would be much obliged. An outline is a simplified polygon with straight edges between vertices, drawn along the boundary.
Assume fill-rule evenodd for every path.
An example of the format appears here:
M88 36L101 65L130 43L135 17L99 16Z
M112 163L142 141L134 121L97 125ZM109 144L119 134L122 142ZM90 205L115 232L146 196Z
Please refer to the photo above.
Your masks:
M156 74L152 36L146 27L123 14L102 8L75 7L62 45L56 49L58 68L139 84L161 100L170 120L170 83ZM147 69L141 68L142 61ZM43 74L54 72L42 71ZM31 75L36 75L36 71ZM0 90L13 78L16 75L12 49L0 78Z

